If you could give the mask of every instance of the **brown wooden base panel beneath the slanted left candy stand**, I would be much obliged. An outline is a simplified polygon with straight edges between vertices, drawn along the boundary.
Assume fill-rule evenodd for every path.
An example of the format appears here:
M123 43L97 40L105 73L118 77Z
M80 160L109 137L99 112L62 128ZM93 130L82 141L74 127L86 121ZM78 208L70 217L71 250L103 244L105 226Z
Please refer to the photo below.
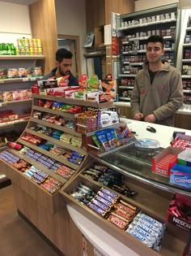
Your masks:
M39 202L14 185L15 202L18 210L25 215L48 239L67 256L70 254L69 215L63 200L56 213L51 213ZM73 241L74 243L74 241Z

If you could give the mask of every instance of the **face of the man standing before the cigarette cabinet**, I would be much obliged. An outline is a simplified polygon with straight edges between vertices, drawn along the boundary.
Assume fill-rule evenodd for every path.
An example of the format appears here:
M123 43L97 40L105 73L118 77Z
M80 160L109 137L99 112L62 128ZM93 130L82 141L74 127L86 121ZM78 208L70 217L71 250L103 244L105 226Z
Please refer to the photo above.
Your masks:
M164 53L162 44L157 42L148 42L146 47L146 59L149 63L159 63Z

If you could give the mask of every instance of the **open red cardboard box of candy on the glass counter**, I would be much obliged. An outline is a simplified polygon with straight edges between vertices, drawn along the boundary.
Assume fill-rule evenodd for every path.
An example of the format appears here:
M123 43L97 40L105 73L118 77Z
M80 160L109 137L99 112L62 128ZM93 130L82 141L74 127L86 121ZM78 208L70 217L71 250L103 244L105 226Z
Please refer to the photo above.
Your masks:
M152 171L161 176L170 176L171 167L176 163L177 154L182 150L169 146L152 158Z

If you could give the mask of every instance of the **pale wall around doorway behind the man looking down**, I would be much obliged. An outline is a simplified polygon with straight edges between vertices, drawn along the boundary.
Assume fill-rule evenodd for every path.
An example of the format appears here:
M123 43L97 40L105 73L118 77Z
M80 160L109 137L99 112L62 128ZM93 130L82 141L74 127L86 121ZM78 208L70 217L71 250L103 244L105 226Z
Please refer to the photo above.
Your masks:
M57 33L79 36L82 73L86 73L83 44L86 37L85 0L55 0Z

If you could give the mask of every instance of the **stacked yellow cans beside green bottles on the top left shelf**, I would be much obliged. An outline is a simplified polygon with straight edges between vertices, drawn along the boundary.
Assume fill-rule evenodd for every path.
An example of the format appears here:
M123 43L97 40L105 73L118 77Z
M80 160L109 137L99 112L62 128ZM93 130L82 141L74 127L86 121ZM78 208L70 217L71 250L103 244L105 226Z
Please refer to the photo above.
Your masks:
M42 55L41 40L36 38L17 39L16 54L19 55Z

